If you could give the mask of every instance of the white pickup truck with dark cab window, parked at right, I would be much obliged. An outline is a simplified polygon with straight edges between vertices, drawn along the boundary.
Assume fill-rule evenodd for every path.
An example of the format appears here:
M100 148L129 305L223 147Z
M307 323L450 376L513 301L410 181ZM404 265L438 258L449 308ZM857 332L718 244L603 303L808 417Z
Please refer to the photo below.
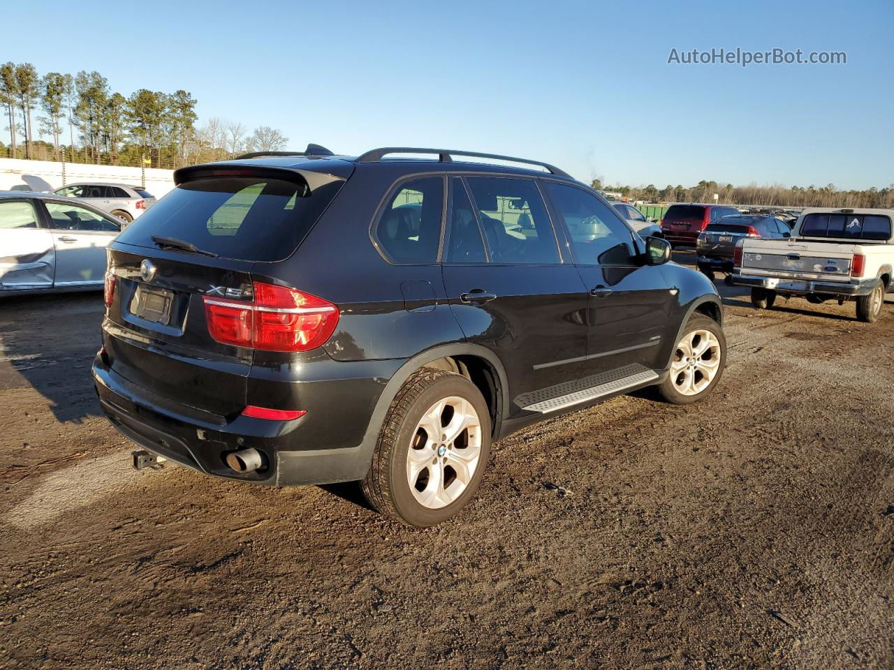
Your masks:
M805 209L786 239L738 242L732 282L751 287L758 309L777 295L814 305L856 300L860 321L874 322L894 291L894 234L890 209Z

